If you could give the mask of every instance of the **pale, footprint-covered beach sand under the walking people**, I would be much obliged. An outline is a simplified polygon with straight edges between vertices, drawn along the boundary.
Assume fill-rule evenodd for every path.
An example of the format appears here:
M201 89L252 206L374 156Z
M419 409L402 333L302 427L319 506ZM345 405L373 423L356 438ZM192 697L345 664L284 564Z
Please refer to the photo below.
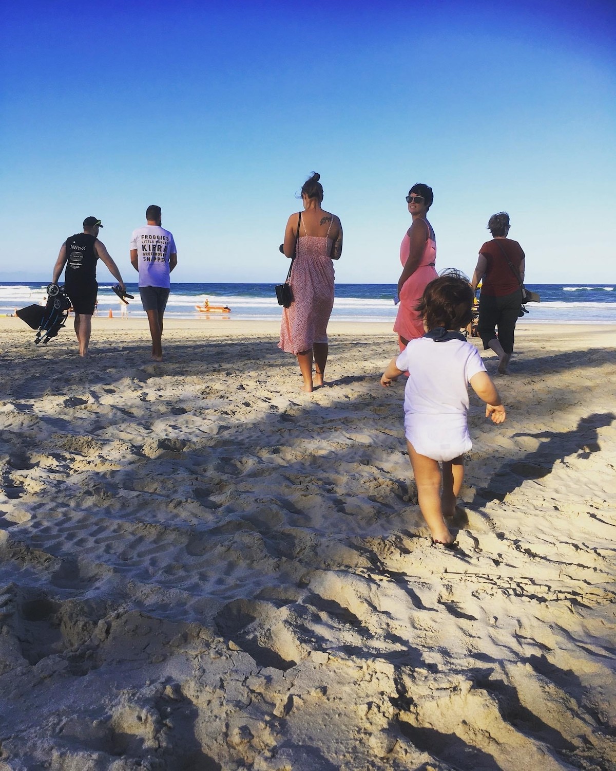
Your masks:
M616 328L521 325L457 553L389 325L0 331L0 771L616 769Z

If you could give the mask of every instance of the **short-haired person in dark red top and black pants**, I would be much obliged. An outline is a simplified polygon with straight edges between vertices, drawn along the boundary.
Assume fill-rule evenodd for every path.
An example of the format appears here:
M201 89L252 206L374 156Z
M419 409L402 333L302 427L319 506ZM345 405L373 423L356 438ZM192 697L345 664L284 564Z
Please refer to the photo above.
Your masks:
M475 290L483 279L477 331L484 349L491 348L497 354L498 372L504 375L514 351L515 323L522 305L524 251L517 241L507 238L510 226L506 211L493 214L487 227L493 238L479 250L472 281Z

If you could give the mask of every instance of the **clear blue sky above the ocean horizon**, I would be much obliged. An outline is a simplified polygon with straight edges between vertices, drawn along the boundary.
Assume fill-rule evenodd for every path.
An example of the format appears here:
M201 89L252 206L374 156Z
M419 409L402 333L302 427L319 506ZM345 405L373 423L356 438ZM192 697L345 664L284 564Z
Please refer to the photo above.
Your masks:
M345 232L337 281L397 281L415 182L437 269L470 274L507 210L528 283L616 281L611 0L26 0L2 30L0 280L50 278L93 214L134 281L156 203L176 281L280 281L316 170Z

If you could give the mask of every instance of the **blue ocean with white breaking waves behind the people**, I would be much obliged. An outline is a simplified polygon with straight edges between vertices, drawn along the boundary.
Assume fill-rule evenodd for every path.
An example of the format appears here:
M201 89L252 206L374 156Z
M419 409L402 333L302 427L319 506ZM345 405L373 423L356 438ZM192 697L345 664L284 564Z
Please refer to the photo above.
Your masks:
M46 284L42 282L0 283L0 315L12 315L15 308L44 303ZM527 305L529 313L521 321L575 324L616 323L614 284L527 284L541 295L541 303ZM99 285L99 315L119 313L120 302L112 284ZM128 306L129 317L145 318L137 284L127 284L135 300ZM394 284L336 284L332 319L336 321L391 322L396 318L393 305ZM205 298L210 305L228 306L230 314L206 315L196 310ZM172 284L166 316L169 318L238 318L262 320L280 318L273 284Z

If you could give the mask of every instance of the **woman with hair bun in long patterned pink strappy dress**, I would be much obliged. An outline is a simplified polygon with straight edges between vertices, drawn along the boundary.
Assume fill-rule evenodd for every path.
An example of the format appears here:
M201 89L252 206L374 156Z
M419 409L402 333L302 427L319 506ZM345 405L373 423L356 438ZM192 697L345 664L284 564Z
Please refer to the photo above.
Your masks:
M296 258L290 278L293 302L283 308L278 347L297 356L302 390L308 393L324 382L327 322L333 308L332 260L338 260L342 253L342 225L335 214L321 207L323 186L319 180L320 175L313 173L303 184L301 221L299 214L291 214L283 244L286 257L295 253Z

